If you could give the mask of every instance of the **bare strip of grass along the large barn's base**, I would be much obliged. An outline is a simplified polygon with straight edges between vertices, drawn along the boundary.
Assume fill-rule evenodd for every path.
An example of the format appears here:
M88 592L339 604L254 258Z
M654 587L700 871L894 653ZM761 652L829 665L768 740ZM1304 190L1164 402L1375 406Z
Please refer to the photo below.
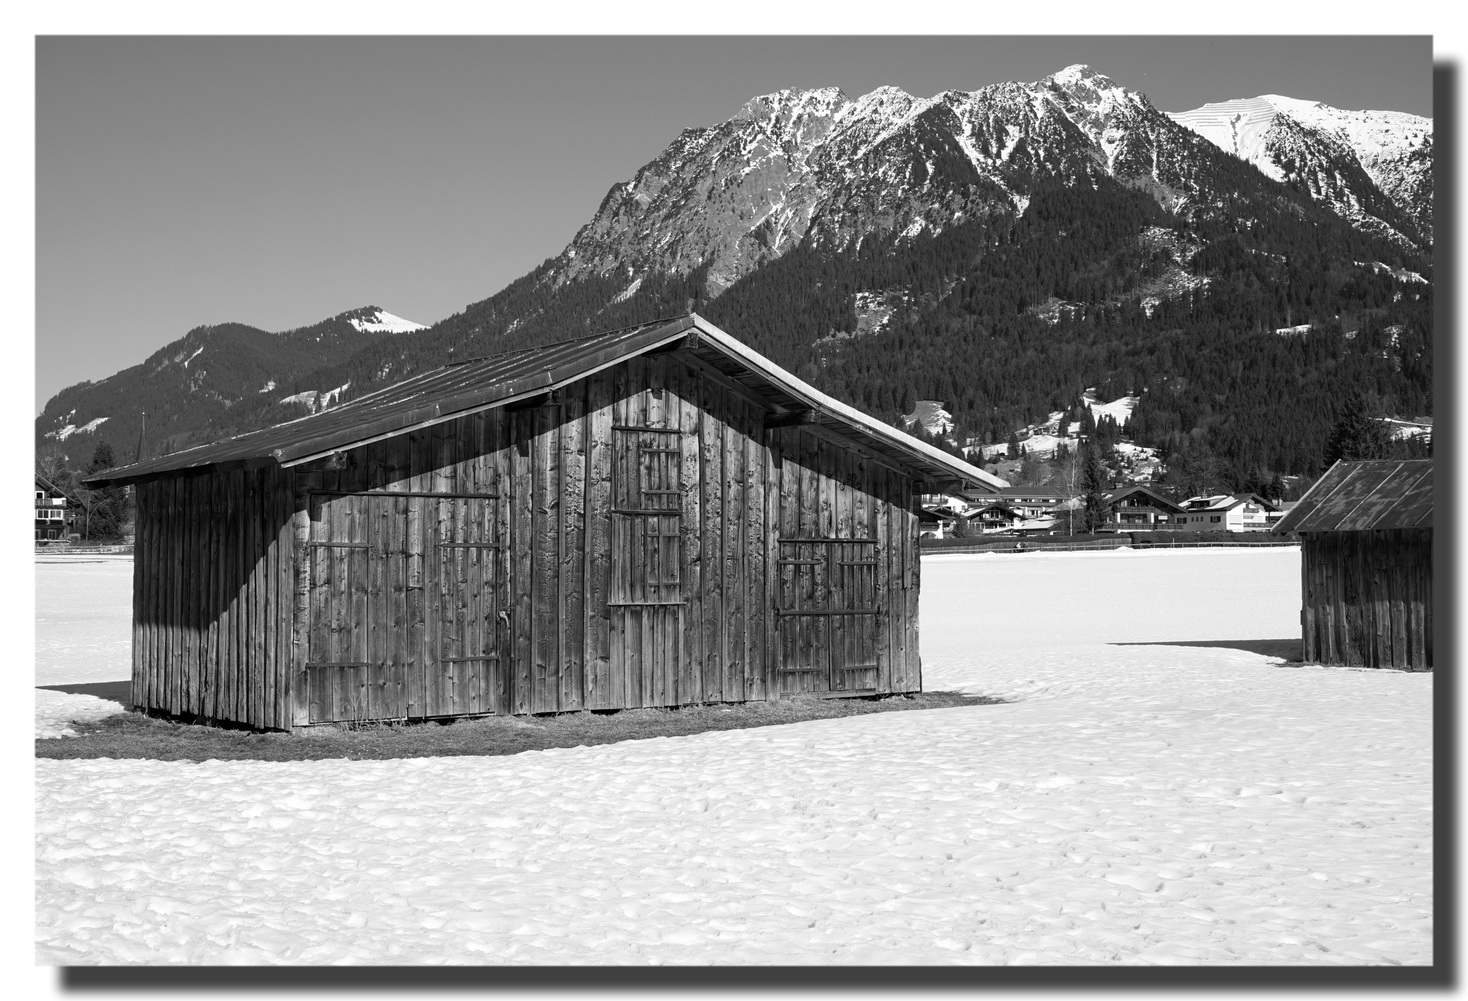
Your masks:
M148 757L166 762L302 762L326 757L358 760L518 754L546 747L587 747L647 737L686 737L709 729L775 727L806 719L862 716L909 709L950 709L1003 702L956 691L923 691L881 699L812 699L570 712L543 716L484 716L449 724L336 724L294 734L222 729L125 712L70 724L76 737L35 741L37 757Z

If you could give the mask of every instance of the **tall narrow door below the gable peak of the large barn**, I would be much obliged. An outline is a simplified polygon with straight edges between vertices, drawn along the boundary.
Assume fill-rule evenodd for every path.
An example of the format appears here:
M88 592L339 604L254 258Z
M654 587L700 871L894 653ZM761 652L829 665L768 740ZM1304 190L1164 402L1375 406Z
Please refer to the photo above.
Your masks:
M612 429L611 666L628 706L678 702L683 659L681 432Z

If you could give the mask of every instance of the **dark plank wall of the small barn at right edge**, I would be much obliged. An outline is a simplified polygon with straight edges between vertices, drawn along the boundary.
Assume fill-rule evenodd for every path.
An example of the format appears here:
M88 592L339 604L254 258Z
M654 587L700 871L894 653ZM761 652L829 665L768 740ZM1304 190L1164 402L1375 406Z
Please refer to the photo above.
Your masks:
M1307 662L1433 666L1431 528L1305 533L1301 553Z

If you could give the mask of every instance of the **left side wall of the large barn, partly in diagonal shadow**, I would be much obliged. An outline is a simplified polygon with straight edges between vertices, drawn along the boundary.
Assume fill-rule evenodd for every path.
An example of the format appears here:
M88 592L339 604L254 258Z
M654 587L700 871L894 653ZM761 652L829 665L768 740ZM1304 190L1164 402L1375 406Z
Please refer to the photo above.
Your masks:
M291 478L206 470L137 484L134 705L291 725Z

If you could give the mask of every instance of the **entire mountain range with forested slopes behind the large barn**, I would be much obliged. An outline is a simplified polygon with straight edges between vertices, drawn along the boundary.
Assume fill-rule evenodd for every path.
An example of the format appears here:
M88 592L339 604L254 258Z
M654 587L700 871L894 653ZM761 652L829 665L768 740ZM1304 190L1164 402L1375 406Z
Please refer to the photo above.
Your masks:
M1167 114L1086 66L778 91L683 131L561 254L451 317L198 327L57 393L38 443L131 458L147 411L157 454L696 308L888 420L941 401L959 445L1094 387L1138 395L1133 432L1180 465L1307 473L1349 387L1431 412L1431 160L1430 119L1273 95Z

